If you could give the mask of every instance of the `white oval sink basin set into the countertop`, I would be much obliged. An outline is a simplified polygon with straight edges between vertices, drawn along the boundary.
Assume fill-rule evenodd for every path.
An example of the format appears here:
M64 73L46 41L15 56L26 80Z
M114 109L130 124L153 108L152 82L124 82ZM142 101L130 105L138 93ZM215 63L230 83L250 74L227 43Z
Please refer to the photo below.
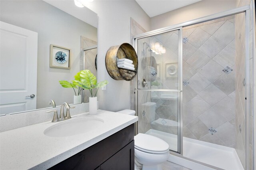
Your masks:
M44 130L44 134L50 137L65 137L82 134L99 128L104 121L98 118L69 119Z

